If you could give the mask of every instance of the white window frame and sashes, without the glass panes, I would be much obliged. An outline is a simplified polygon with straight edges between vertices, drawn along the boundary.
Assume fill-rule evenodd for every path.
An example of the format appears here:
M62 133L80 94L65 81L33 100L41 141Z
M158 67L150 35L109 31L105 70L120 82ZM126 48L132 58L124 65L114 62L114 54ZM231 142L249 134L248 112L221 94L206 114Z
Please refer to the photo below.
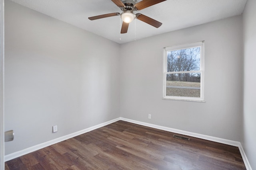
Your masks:
M200 70L192 71L176 71L176 72L167 72L167 52L188 49L193 47L200 47ZM184 96L166 96L166 75L173 73L188 73L188 72L200 72L200 98L197 97L184 97ZM172 47L164 47L163 50L163 99L167 100L184 100L184 101L194 101L194 102L205 102L204 100L204 41L188 43L184 45L175 45Z

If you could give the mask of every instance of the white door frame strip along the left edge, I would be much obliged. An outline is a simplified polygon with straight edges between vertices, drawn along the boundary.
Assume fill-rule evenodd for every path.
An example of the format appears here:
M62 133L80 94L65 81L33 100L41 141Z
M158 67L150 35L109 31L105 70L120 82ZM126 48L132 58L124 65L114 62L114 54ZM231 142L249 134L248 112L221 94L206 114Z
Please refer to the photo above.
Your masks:
M4 170L4 0L0 0L0 170Z

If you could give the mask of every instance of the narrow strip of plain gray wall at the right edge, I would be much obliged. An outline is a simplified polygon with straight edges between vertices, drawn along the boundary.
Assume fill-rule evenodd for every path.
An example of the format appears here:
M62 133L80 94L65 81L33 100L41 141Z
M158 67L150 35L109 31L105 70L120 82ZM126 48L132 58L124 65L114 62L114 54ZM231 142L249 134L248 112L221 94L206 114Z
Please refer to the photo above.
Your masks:
M256 1L247 0L243 13L244 32L244 141L243 148L256 169Z

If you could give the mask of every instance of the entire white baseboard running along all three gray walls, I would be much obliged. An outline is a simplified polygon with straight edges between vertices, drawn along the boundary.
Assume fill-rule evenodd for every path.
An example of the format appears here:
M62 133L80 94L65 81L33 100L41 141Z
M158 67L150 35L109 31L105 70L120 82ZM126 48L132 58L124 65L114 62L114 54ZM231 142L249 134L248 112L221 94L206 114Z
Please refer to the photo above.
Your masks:
M160 130L164 130L164 131L169 131L169 132L173 132L173 133L178 133L178 134L182 134L182 135L186 135L186 136L196 137L196 138L205 139L205 140L208 140L208 141L214 141L214 142L223 143L223 144L238 147L238 149L240 150L241 156L243 158L244 164L246 166L246 169L247 170L252 170L252 168L249 164L249 161L246 157L246 154L244 152L244 149L242 147L242 144L238 141L231 141L231 140L228 140L228 139L222 139L222 138L218 138L218 137L212 137L212 136L208 136L208 135L202 135L202 134L198 134L198 133L182 131L182 130L173 129L173 128L170 128L170 127L164 127L164 126L154 125L154 124L145 123L145 122L141 122L141 121L136 121L136 120L132 120L132 119L126 119L126 118L123 118L123 117L119 117L119 118L101 123L99 125L95 125L95 126L87 128L87 129L84 129L84 130L81 130L81 131L78 131L78 132L75 132L75 133L71 133L69 135L59 137L57 139L54 139L54 140L51 140L51 141L48 141L48 142L45 142L45 143L41 143L39 145L35 145L33 147L30 147L30 148L27 148L27 149L24 149L24 150L20 150L18 152L14 152L14 153L5 155L4 160L5 160L5 162L8 161L8 160L12 160L12 159L17 158L19 156L28 154L30 152L34 152L38 149L48 147L50 145L53 145L55 143L59 143L61 141L65 141L65 140L70 139L72 137L82 135L86 132L98 129L100 127L109 125L109 124L114 123L114 122L119 121L119 120L123 120L123 121L127 121L127 122L130 122L130 123L135 123L135 124L138 124L138 125L143 125L143 126L152 127L152 128L156 128L156 129L160 129Z

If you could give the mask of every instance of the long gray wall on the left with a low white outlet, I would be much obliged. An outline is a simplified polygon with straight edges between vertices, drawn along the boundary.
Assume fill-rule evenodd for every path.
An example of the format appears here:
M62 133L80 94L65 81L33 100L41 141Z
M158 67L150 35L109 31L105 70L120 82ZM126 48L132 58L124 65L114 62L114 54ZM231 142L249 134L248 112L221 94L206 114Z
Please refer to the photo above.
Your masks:
M6 154L120 117L119 44L9 0L5 12Z

